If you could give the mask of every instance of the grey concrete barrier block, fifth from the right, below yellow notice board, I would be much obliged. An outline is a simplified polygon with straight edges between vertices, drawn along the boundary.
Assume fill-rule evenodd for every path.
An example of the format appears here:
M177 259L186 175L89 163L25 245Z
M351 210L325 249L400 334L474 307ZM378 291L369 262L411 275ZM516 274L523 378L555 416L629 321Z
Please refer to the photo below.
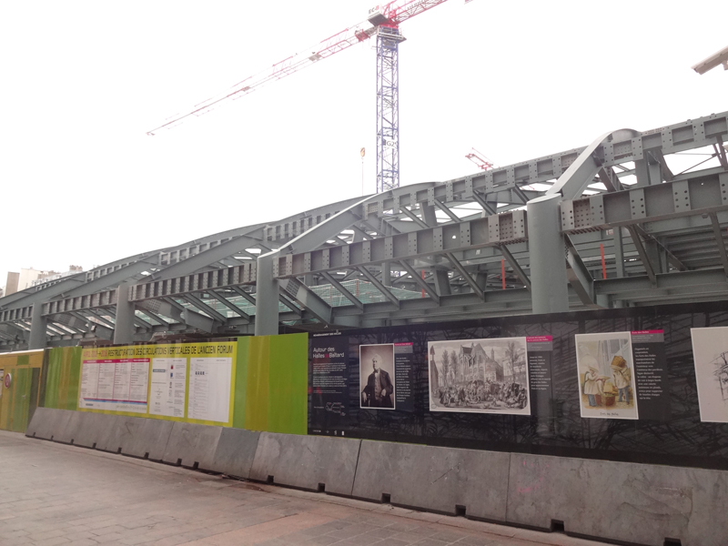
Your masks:
M222 427L175 422L162 460L186 467L194 467L197 463L199 468L209 470L199 463L213 460L221 431Z

